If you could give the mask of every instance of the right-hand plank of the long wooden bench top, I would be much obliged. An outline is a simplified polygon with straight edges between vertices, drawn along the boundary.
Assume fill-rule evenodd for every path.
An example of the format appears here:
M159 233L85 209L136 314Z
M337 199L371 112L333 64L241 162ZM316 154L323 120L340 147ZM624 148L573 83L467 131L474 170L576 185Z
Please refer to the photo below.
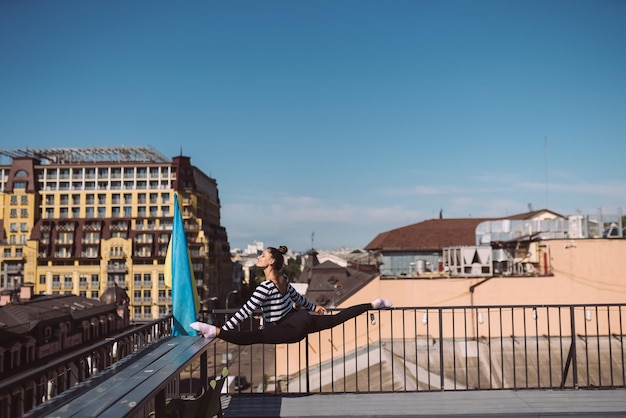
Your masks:
M169 353L167 358L160 360L159 367L155 368L141 385L135 386L132 390L127 390L123 398L114 404L109 403L106 409L101 409L102 412L98 416L119 418L130 414L134 407L141 405L146 399L155 396L164 389L170 378L178 375L194 358L199 359L198 353L211 343L210 340L198 337L176 338L185 338L189 344L182 351Z

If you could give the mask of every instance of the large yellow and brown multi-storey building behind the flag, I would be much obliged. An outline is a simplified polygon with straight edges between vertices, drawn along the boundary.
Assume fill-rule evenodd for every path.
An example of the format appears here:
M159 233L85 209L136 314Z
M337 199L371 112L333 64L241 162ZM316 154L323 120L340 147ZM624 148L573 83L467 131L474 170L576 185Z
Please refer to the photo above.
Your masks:
M3 150L0 165L0 291L98 299L117 284L131 319L170 311L163 264L179 195L201 297L232 283L217 182L190 158L149 147Z

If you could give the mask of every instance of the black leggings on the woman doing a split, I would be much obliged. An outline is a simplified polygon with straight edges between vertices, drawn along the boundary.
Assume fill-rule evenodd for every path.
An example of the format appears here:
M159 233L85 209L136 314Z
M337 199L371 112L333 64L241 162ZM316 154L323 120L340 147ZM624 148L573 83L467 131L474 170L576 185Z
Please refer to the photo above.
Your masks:
M220 330L218 338L238 345L297 343L307 334L342 324L372 309L370 303L351 306L335 315L311 315L304 309L294 309L276 324L252 331Z

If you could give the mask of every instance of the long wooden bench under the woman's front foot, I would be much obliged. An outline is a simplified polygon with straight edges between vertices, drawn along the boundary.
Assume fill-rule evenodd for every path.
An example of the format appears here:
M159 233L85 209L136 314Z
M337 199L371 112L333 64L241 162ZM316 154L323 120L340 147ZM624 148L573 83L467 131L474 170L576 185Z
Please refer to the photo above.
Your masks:
M84 390L45 416L143 417L152 410L156 418L165 417L168 385L198 358L200 382L206 386L209 344L201 337L170 337L156 342L120 370L113 369L110 376L101 376L94 385L86 384Z

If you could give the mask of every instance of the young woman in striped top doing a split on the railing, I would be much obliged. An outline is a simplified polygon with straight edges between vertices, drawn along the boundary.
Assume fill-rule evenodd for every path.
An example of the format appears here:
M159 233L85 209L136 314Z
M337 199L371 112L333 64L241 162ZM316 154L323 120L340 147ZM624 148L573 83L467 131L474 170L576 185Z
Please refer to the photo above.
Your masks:
M376 299L372 303L343 309L336 315L324 315L326 309L323 306L315 305L296 292L287 276L281 273L285 253L287 247L280 246L278 249L268 247L259 255L257 267L263 269L266 280L257 286L250 299L222 328L204 322L194 322L191 327L204 338L217 337L238 345L295 343L307 334L332 328L369 309L391 307L391 302L387 299ZM294 303L303 309L295 308ZM265 327L252 331L237 330L257 309L263 312ZM307 311L322 315L310 315Z

